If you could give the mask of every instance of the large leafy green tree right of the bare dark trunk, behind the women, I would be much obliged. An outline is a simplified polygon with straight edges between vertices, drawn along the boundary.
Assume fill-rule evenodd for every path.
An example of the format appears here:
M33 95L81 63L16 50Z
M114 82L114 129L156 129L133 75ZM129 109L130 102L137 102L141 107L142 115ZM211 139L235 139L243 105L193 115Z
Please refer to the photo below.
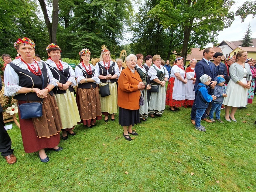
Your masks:
M133 13L130 0L74 0L70 10L63 14L68 24L62 23L57 34L63 57L79 58L82 48L90 49L91 57L99 57L103 44L113 57L116 52L120 54L124 25L130 23Z

